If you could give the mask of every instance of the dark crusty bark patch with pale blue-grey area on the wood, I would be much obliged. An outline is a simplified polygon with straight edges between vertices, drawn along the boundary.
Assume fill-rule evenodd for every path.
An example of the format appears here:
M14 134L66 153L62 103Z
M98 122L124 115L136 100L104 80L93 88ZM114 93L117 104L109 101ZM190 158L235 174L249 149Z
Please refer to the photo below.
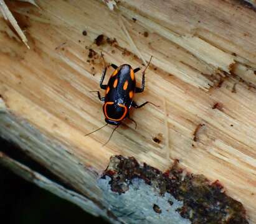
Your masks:
M107 181L104 181L105 179ZM131 203L129 208L134 210L132 213L136 215L141 214L141 217L143 217L143 215L145 215L145 218L147 216L155 217L154 212L156 212L159 213L159 217L163 215L166 220L168 213L164 215L163 212L165 210L169 212L170 208L166 205L169 200L166 198L166 195L169 195L168 197L175 198L171 200L172 203L179 203L175 211L179 212L182 218L188 219L189 222L193 224L249 223L242 203L225 194L224 187L222 187L219 181L216 180L216 182L210 183L204 175L194 175L186 171L184 172L184 169L178 166L178 162L176 162L171 169L163 173L145 163L140 165L133 157L125 158L123 156L113 156L110 158L108 168L103 173L102 180L100 180L100 186L102 185L104 185L102 188L105 194L107 191L106 185L109 185L108 187L112 192L116 192L116 195L111 195L111 206L120 206L118 205L118 201L121 200L120 203L124 203L123 200L126 198L125 202ZM155 190L161 195L161 200L164 200L165 205L161 203L159 207L157 203L153 203L154 199L150 199L150 197L154 197L154 194L151 195L149 193L148 185L151 191ZM135 189L140 190L140 192L136 192L136 194L130 193L130 190L133 192ZM107 192L109 193L109 190ZM144 192L144 194L142 192ZM148 194L147 197L146 192ZM121 194L125 194L126 197L123 196L123 198L121 198L118 196ZM141 200L141 198L138 200L136 195L141 194L145 195L145 200ZM130 198L129 200L129 197L134 198ZM158 202L161 200L158 199ZM140 209L143 210L143 208L138 205L140 203L143 203L141 207L146 207L144 210L144 212L146 211L145 213L140 211ZM153 207L154 212L148 209L150 206ZM117 216L120 215L125 214L121 213L119 210ZM170 223L179 223L177 220L172 222L172 218L173 215L169 214ZM180 222L185 221L181 219Z

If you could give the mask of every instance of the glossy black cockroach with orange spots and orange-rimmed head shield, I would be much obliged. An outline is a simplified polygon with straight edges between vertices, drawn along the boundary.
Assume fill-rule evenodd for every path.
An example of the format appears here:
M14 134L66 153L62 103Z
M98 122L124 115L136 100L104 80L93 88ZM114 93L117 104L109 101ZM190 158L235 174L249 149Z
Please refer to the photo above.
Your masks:
M103 55L102 55L103 58ZM148 62L148 65L146 65L146 68L148 68L149 63L151 62L152 56ZM105 60L103 58L103 62L105 65ZM91 91L96 92L98 94L98 98L104 102L103 105L103 113L105 115L105 121L107 124L104 126L96 129L95 131L98 131L108 124L115 125L116 127L113 129L110 138L108 141L110 141L111 136L113 135L114 131L118 126L120 126L121 122L128 118L133 123L135 123L135 129L136 129L136 121L130 118L130 108L131 106L133 108L141 108L142 106L145 106L147 103L151 103L149 101L146 101L145 103L142 103L141 105L137 105L135 101L133 101L133 96L135 93L142 93L145 88L145 72L146 68L143 71L142 75L142 83L141 87L136 86L136 80L135 80L135 73L140 71L140 68L131 68L131 65L123 64L120 67L111 64L111 67L113 67L115 70L112 73L110 79L108 80L107 85L103 85L103 81L107 72L107 66L105 65L105 68L102 72L102 78L100 80L100 88L102 88L105 91L105 97L102 97L100 95L100 91ZM151 103L154 105L153 103ZM154 105L156 106L156 105ZM91 133L86 134L85 136L88 136L89 134L94 133L95 131L92 131ZM108 141L103 145L105 146Z

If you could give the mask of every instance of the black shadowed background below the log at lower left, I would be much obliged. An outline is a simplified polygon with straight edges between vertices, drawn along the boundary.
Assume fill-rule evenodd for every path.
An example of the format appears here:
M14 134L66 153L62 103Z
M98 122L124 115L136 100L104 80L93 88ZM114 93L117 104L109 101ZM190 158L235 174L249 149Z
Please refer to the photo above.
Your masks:
M0 151L16 146L0 138ZM73 203L27 182L0 165L0 218L4 224L102 223Z

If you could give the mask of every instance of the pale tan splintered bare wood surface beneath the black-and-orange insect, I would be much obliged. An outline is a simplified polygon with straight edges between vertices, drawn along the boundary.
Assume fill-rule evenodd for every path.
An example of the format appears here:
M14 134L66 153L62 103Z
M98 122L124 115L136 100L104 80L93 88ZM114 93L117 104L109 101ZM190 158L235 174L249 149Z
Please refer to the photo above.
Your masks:
M31 50L1 19L1 136L104 211L108 205L97 178L110 156L121 154L160 170L179 159L190 172L218 179L256 223L252 7L234 0L123 0L113 11L96 0L6 3ZM93 44L101 34L108 40ZM111 127L85 137L105 123L102 104L90 93L99 89L100 52L107 63L134 68L153 55L146 90L135 100L160 106L133 110L138 128L125 121L105 147ZM140 72L136 78L140 83ZM205 126L194 141L199 124ZM153 141L159 135L163 141Z

